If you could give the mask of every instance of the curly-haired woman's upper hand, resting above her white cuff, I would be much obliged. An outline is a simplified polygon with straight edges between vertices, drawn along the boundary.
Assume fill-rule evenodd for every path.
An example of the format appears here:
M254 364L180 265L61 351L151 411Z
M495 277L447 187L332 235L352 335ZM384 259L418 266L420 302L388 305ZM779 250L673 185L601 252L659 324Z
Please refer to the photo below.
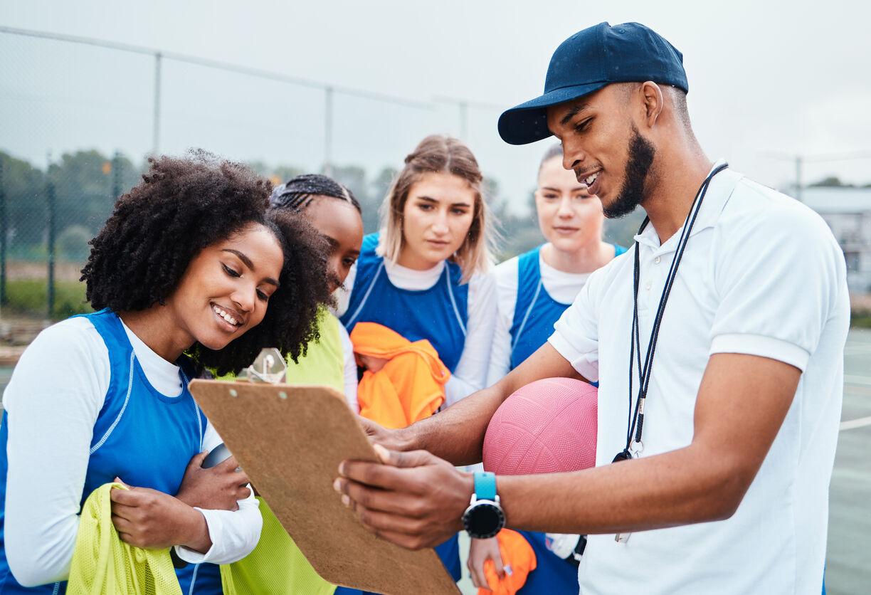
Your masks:
M244 471L237 471L239 463L236 463L235 456L203 469L207 454L206 451L192 456L175 497L188 506L206 510L238 509L236 501L244 500L251 494L247 487L248 476Z

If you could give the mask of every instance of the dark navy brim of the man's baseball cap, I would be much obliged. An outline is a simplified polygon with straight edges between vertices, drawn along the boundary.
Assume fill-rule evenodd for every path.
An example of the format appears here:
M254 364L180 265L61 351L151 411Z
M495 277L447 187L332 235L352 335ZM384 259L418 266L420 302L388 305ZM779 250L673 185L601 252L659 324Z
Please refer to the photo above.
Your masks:
M512 107L499 116L499 136L509 145L528 145L537 140L547 139L552 134L547 127L547 108L550 105L584 97L605 85L608 83L603 81L563 87Z

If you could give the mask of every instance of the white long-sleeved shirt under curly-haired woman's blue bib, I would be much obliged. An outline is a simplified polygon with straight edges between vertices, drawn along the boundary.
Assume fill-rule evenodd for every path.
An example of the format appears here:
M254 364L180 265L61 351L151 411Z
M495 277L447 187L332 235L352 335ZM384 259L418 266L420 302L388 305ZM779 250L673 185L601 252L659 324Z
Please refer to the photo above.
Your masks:
M124 329L148 382L164 395L180 395L179 367ZM37 336L3 392L3 408L15 420L7 443L4 548L23 585L69 575L92 430L110 380L109 351L97 329L86 318L71 318ZM221 443L211 424L204 434L202 450ZM262 518L253 495L239 501L239 510L200 512L213 544L206 553L177 546L187 562L233 562L260 538Z

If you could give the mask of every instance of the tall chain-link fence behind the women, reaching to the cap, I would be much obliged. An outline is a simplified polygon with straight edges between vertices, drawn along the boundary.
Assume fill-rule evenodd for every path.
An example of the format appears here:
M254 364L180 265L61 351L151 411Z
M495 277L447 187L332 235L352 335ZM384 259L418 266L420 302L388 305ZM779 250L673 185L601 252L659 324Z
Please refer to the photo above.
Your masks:
M505 145L505 106L401 97L237 64L0 26L0 307L58 319L87 311L88 240L145 158L202 147L283 181L324 172L361 200L366 232L405 155L463 139L482 166L503 258L542 241L532 192L544 144ZM634 219L609 223L631 241Z

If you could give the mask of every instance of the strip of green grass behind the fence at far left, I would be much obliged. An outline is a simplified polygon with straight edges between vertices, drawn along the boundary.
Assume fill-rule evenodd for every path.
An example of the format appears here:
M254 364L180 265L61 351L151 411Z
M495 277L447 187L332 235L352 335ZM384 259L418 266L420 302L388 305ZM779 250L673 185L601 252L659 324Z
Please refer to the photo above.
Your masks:
M81 281L55 281L55 301L51 315L48 312L48 281L21 279L6 281L6 303L3 312L37 315L52 320L68 318L73 314L93 312L84 302L84 283Z

